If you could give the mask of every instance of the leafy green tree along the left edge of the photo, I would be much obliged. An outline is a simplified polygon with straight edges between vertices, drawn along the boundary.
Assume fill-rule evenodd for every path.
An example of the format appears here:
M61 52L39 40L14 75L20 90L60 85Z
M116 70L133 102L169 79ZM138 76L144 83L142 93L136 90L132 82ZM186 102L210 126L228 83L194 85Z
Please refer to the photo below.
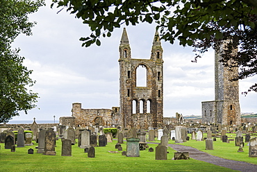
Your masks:
M31 110L37 102L38 94L28 90L35 83L29 78L32 71L22 65L24 57L11 43L20 33L31 35L35 22L28 22L28 15L42 5L41 0L0 0L0 123Z

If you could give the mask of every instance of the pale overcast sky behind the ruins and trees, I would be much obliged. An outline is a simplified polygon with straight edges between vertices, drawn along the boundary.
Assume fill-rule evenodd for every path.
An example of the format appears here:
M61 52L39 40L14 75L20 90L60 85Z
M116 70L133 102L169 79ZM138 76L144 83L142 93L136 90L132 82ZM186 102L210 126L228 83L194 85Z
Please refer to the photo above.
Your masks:
M21 49L24 65L33 70L37 83L38 107L28 114L20 113L13 120L56 120L71 116L72 103L82 107L108 108L119 106L119 41L123 28L115 29L112 37L101 39L101 46L81 47L80 37L90 35L88 26L66 10L41 7L30 15L33 35L19 35L13 47ZM138 24L126 27L132 58L150 58L155 25ZM163 42L164 117L176 112L201 115L201 101L214 100L214 51L208 51L192 63L192 48ZM256 77L240 81L240 93L256 82ZM257 93L240 94L241 112L257 112Z

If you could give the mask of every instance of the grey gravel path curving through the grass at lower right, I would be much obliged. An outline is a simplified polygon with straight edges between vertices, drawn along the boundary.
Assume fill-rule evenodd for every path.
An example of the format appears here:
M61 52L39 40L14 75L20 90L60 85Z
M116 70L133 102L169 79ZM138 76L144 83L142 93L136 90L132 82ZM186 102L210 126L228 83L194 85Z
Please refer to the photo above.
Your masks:
M168 146L179 152L189 152L189 156L194 158L194 160L200 160L211 164L215 164L217 166L224 166L226 168L238 170L238 171L245 171L245 172L257 171L257 165L255 164L249 164L247 162L238 162L233 160L226 160L221 157L215 157L213 155L204 153L190 146L183 146L180 144L169 144Z

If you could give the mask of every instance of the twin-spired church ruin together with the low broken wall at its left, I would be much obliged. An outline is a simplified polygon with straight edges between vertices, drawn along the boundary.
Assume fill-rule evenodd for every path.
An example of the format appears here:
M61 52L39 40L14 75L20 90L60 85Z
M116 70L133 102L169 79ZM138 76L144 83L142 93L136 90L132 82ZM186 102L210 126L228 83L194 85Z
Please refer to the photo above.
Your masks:
M149 59L131 57L126 29L119 44L119 107L83 109L72 104L76 126L158 128L163 124L163 48L156 31ZM146 70L146 85L138 86L138 67Z

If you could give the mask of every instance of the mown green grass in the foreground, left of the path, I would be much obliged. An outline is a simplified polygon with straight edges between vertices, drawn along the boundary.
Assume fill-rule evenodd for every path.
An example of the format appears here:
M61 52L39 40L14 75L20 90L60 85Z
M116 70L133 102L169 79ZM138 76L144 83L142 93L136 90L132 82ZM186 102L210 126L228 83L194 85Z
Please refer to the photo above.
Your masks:
M4 149L4 144L0 150L0 171L233 171L221 166L215 166L198 160L172 160L174 150L168 148L168 160L155 160L155 153L147 150L140 151L140 157L122 156L119 153L109 153L117 151L115 149L116 140L108 143L106 147L96 147L94 158L88 157L84 150L78 148L77 144L72 146L72 157L61 156L61 141L56 142L56 155L42 155L36 153L35 146L16 148L16 152ZM188 141L194 143L194 141ZM204 142L204 141L201 141ZM157 144L149 144L154 148ZM126 150L126 144L122 144ZM28 154L28 149L33 148L34 154Z

